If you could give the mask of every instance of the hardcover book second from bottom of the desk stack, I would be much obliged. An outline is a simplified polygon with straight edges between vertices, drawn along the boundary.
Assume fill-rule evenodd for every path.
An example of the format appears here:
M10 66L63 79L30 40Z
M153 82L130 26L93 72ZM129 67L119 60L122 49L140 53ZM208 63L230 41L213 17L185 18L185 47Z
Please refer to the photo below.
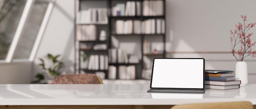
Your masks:
M239 85L241 84L240 80L233 81L204 81L206 85Z

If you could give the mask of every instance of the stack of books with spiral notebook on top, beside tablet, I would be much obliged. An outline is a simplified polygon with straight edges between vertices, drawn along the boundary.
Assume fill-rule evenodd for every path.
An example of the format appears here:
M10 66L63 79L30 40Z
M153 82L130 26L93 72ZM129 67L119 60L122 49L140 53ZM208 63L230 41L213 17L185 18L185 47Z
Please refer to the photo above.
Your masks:
M206 89L237 89L241 81L236 80L233 70L205 70Z

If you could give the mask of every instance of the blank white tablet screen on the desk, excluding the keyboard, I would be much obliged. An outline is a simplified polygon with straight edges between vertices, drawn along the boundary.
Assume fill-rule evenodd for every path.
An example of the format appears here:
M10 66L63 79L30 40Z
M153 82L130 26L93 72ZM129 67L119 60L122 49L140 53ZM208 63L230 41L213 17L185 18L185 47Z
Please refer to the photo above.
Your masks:
M152 88L204 86L204 59L154 59Z

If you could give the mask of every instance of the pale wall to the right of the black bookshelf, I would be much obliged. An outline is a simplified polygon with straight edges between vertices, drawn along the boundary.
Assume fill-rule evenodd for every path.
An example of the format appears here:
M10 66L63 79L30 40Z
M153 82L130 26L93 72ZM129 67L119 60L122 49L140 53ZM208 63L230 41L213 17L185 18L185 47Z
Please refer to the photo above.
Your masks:
M247 15L247 24L256 22L255 0L166 0L166 37L172 52L227 52L176 53L171 57L203 57L206 69L235 70L236 59L231 53L230 30L240 15ZM256 27L252 41L256 40ZM254 47L256 50L256 46ZM249 83L256 73L256 59L246 57ZM253 78L252 78L253 77Z

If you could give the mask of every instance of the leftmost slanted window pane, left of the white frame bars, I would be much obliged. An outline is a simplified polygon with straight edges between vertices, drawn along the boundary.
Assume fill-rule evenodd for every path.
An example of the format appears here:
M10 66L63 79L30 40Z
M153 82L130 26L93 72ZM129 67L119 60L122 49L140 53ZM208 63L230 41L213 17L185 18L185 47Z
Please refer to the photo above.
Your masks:
M26 0L4 0L0 10L0 60L6 59Z

